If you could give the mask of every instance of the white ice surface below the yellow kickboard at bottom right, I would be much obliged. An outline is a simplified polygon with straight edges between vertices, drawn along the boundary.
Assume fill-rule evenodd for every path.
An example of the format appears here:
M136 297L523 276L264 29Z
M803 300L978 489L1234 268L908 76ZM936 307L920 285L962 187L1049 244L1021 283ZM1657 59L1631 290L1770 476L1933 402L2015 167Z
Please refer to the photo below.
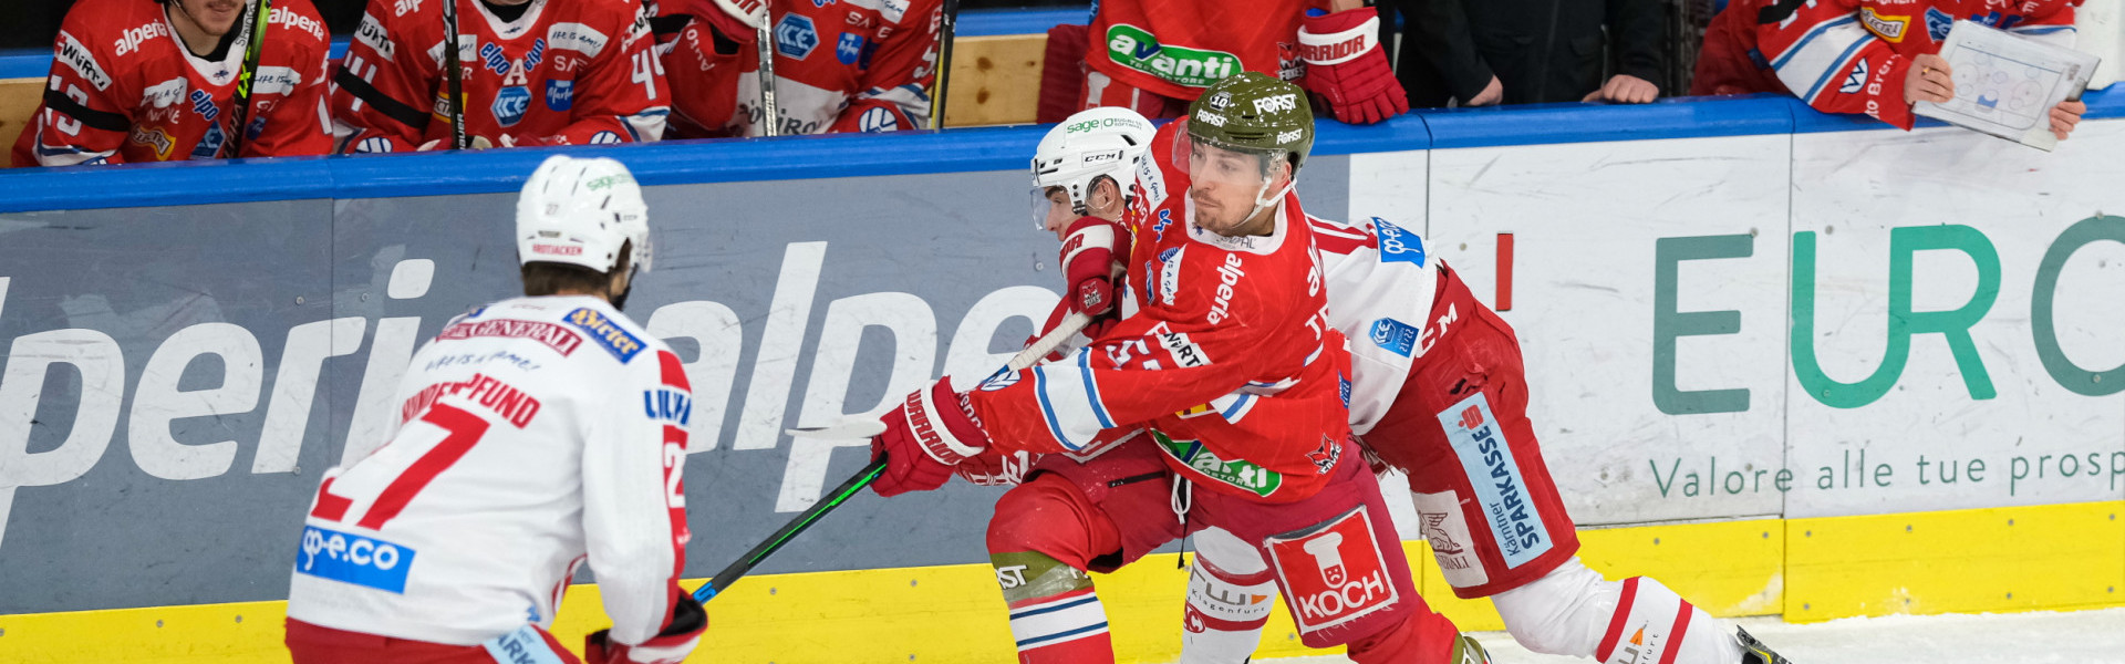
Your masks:
M1794 664L2125 664L2125 609L1998 615L1891 615L1825 624L1745 617L1740 624ZM1494 664L1587 664L1538 655L1504 632L1479 632ZM1330 664L1345 658L1262 660Z

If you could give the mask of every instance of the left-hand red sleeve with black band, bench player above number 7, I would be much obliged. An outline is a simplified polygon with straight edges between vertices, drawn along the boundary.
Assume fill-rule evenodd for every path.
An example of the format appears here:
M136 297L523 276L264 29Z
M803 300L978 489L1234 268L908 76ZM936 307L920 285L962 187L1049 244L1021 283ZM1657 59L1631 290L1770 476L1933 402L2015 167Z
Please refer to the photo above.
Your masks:
M404 9L404 13L400 11ZM465 19L463 15L459 19ZM332 79L342 151L412 151L434 119L442 77L438 2L370 0ZM444 119L446 121L446 119Z

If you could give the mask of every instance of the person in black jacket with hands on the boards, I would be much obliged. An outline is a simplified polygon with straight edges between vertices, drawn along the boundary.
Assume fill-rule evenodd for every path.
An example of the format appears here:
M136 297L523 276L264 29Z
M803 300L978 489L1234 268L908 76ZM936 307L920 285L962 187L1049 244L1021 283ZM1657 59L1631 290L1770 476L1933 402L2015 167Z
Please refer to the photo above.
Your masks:
M1662 0L1392 0L1409 106L1660 98ZM1606 28L1606 34L1602 32ZM1606 53L1606 55L1604 55ZM1613 66L1609 66L1613 60ZM1606 81L1602 70L1615 74Z

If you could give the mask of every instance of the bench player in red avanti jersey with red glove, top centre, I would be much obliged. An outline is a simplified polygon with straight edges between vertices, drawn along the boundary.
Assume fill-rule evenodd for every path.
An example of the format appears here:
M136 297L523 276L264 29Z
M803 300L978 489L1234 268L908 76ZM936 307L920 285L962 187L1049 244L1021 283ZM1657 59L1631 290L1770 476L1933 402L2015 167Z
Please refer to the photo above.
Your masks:
M1050 40L1050 68L1086 66L1082 79L1043 74L1043 87L1082 81L1071 111L1122 106L1177 117L1207 85L1250 70L1296 81L1339 121L1409 113L1379 47L1379 13L1362 0L1107 0L1094 4L1092 26L1058 26ZM1043 89L1043 113L1062 96Z

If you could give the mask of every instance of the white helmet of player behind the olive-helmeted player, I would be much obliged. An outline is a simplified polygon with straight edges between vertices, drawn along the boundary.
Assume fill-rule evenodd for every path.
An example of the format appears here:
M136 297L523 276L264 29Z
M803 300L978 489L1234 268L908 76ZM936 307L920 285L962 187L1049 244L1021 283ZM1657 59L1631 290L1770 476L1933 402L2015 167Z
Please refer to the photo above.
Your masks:
M1071 115L1033 151L1033 223L1046 228L1048 187L1069 192L1071 211L1086 215L1086 198L1101 177L1128 196L1137 168L1152 155L1150 119L1128 109L1092 109Z

